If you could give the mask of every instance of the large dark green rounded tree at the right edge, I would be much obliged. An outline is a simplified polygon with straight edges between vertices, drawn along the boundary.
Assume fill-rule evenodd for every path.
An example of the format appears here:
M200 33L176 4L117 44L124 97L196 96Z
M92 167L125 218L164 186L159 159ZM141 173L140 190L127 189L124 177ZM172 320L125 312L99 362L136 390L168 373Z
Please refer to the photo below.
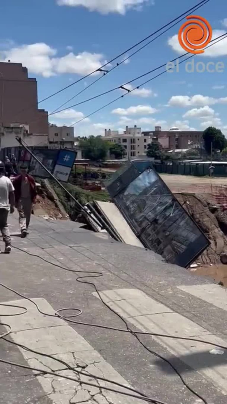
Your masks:
M227 147L227 140L220 129L209 126L203 133L204 148L208 154L211 152L211 143L213 151L222 151Z

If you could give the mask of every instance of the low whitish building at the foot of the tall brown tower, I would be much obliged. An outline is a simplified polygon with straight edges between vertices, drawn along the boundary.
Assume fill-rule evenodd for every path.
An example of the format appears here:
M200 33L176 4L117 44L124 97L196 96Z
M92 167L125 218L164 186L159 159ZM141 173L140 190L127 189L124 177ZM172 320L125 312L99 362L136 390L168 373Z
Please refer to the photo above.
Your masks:
M8 126L0 125L0 149L19 146L17 136L21 137L30 147L48 147L48 135L31 134L29 125L26 124L10 124Z

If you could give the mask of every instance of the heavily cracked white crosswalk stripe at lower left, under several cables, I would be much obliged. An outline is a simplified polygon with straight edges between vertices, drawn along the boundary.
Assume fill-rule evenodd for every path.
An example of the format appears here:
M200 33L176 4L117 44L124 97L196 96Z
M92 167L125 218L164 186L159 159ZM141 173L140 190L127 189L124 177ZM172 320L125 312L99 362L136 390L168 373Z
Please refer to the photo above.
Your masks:
M45 299L33 299L40 309L48 314L54 314L54 309ZM7 317L7 323L12 328L10 337L15 343L25 345L35 351L47 353L67 362L77 370L92 373L98 377L121 383L123 386L129 386L128 382L102 358L102 356L93 349L93 347L79 335L67 322L57 317L48 317L40 314L35 305L25 299L11 302L4 302L12 305L27 307L27 313L21 316ZM16 314L18 309L2 306L1 313ZM6 317L4 318L4 322ZM69 403L100 403L106 404L113 402L115 404L141 404L141 400L122 396L107 390L101 390L100 385L112 389L126 391L123 387L110 384L104 381L96 381L91 376L79 375L72 370L65 370L66 367L44 356L37 355L19 347L23 357L30 367L39 368L46 371L58 371L58 374L73 377L81 380L80 383L61 379L52 375L40 375L34 372L37 380L42 385L46 395L54 404ZM94 383L97 387L90 387L83 384L83 381ZM130 392L131 393L131 392Z

